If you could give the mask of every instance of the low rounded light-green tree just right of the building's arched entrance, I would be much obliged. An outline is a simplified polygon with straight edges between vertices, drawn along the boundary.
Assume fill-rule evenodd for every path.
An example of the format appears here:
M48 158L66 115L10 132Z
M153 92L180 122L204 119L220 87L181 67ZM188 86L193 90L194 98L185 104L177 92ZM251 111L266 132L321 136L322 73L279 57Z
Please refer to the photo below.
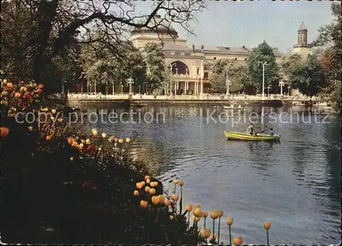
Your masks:
M252 84L246 64L237 64L230 59L220 59L213 64L213 69L209 75L213 90L226 91L227 72L228 79L231 82L230 91L246 90Z

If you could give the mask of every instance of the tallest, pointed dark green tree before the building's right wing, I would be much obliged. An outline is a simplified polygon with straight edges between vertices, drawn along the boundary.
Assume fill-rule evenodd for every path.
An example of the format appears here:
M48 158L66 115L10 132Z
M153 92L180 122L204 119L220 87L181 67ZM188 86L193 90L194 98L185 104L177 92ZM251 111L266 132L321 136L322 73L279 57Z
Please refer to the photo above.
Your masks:
M247 59L248 71L252 77L252 82L257 90L262 90L263 66L259 62L267 62L265 66L265 88L276 86L279 80L279 68L276 64L276 57L273 49L267 42L263 41L257 48L254 48Z

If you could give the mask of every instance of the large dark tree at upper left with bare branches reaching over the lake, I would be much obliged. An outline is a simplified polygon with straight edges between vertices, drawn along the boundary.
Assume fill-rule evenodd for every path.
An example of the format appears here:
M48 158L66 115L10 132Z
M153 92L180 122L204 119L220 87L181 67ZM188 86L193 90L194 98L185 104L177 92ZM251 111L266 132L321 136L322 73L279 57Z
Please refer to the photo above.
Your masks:
M189 21L205 8L202 1L158 1L147 15L132 16L132 1L59 1L11 0L1 1L1 60L12 78L34 79L49 86L46 79L53 58L75 43L102 42L122 64L127 64L122 46L129 31L146 27L159 32L160 23L154 16L166 14L161 21L178 23L187 32ZM170 26L166 26L170 29ZM94 36L94 29L102 36Z

